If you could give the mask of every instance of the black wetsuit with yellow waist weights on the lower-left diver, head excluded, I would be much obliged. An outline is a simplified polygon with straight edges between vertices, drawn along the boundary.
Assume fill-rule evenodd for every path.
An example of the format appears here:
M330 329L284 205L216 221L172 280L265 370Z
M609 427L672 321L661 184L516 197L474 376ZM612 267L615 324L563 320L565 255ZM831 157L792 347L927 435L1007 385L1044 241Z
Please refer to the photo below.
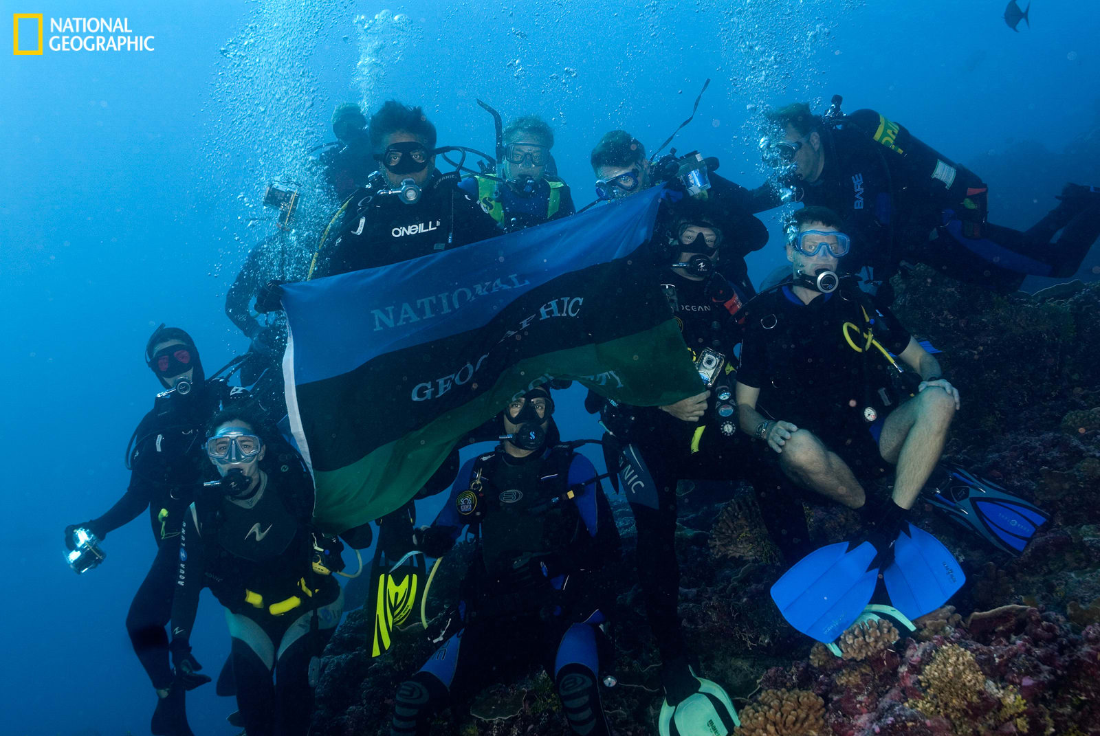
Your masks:
M251 507L207 491L188 509L172 605L173 650L187 650L199 592L226 607L237 703L250 734L309 730L319 657L340 620L340 585L317 573L314 487L299 463L267 464ZM283 470L286 469L286 470Z

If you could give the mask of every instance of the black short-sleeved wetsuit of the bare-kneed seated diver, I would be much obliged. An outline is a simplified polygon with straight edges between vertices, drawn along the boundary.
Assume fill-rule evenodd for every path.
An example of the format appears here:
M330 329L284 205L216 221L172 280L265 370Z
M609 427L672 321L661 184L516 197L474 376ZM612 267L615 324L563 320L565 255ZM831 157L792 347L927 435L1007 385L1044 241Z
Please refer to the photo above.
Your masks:
M760 389L758 410L813 432L857 477L882 475L888 465L878 451L879 432L901 392L878 350L857 352L845 333L862 348L871 330L886 350L901 354L910 333L886 304L850 283L809 305L781 286L754 299L747 311L737 381ZM759 448L772 461L778 457Z

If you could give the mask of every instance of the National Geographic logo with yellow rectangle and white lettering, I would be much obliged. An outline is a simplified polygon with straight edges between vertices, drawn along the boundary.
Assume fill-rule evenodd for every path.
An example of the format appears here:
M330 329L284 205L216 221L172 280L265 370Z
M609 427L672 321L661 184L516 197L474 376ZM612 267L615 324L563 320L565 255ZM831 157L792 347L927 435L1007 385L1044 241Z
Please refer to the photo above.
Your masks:
M50 35L42 13L14 13L12 53L41 56L46 47L57 52L156 51L156 36L130 29L129 18L51 18Z

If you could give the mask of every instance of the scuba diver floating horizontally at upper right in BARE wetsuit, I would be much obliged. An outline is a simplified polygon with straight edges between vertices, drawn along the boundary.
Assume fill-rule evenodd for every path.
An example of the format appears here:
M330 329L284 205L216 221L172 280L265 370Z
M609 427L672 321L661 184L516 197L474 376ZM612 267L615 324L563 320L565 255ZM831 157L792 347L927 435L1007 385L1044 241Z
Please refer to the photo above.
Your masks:
M761 142L789 193L828 207L845 221L856 248L853 273L889 282L905 263L926 263L961 282L1002 293L1028 275L1072 276L1100 235L1100 191L1067 184L1060 204L1025 232L988 221L988 187L909 130L873 110L844 116L840 98L824 117L805 103L767 114L776 127ZM765 185L754 211L779 207L779 188ZM1062 237L1052 242L1062 231Z

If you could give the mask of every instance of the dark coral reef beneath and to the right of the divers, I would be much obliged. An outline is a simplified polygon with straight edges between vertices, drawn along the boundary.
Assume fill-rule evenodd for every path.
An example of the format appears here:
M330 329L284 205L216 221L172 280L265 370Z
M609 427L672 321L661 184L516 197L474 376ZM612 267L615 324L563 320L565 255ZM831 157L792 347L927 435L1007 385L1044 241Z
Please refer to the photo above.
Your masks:
M917 268L894 286L899 317L944 351L961 392L948 454L1045 508L1052 524L1012 558L919 504L915 523L955 552L967 585L898 641L882 624L849 631L838 658L811 647L771 603L768 589L783 567L751 504L718 503L721 494L685 504L676 532L680 614L700 671L734 696L740 734L1100 736L1100 505L1091 501L1100 482L1100 284L998 296ZM641 613L629 513L620 497L612 503L624 532L607 672L618 684L602 697L615 734L651 735L659 659ZM807 518L822 543L856 524L824 504L807 506ZM454 595L450 583L464 562L448 563L431 611ZM315 733L387 734L398 683L432 651L414 627L372 660L369 630L369 617L352 612L330 644ZM443 713L432 733L569 729L535 666Z

